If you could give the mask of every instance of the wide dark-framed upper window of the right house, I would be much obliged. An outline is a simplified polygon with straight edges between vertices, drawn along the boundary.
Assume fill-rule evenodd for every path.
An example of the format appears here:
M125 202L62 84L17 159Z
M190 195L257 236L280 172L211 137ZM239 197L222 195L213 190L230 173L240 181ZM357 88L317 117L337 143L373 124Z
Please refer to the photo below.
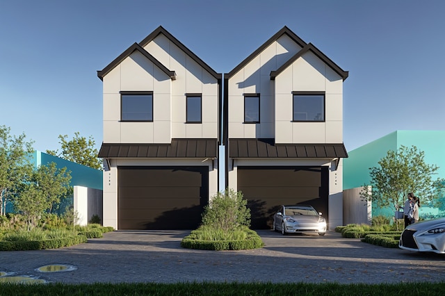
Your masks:
M324 122L325 92L292 92L294 122Z

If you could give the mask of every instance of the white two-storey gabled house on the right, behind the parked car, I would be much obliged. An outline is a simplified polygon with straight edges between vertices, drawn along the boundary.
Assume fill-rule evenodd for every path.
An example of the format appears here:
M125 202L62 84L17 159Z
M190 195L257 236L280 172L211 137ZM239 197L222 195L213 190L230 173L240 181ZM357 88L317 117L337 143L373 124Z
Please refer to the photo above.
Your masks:
M224 74L226 186L241 190L252 228L281 204L311 204L342 224L343 71L284 26Z

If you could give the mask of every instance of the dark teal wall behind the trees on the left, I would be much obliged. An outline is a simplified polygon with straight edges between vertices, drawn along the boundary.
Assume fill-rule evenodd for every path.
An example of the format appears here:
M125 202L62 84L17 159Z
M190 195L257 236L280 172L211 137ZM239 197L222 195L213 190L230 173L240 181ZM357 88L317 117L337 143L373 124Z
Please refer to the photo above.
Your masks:
M33 164L35 167L39 165L47 165L48 163L56 163L56 167L67 167L71 171L71 186L84 186L88 188L100 189L103 188L102 170L95 170L85 165L65 161L65 159L58 158L40 151L34 151Z

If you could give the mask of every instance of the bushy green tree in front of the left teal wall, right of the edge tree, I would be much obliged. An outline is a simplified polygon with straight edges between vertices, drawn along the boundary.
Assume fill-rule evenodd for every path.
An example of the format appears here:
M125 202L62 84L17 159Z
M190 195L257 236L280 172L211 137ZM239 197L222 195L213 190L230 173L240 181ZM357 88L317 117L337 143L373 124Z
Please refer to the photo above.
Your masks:
M29 174L14 199L15 209L26 217L28 229L35 227L45 211L51 213L54 204L70 193L70 180L67 168L58 169L56 163L40 165Z

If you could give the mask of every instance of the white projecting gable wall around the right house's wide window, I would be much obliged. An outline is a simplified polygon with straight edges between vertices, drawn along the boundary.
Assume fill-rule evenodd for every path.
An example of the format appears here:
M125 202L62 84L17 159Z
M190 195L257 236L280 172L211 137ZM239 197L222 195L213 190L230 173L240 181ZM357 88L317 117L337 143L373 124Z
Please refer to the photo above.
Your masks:
M343 142L343 80L312 52L275 79L275 142ZM292 122L292 92L325 92L325 122Z

